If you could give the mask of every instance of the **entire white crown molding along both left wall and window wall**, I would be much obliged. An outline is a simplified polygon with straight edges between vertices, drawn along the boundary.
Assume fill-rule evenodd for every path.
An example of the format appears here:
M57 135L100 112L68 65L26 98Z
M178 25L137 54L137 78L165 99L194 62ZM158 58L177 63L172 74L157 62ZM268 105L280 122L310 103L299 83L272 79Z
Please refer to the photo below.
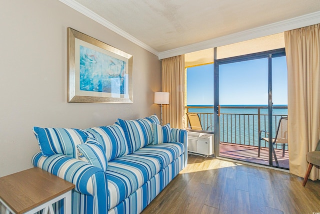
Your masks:
M303 15L300 17L295 17L292 19L272 23L269 25L264 25L261 27L253 28L250 30L238 32L235 34L230 34L227 36L223 36L223 37L219 37L219 38L206 40L203 42L194 43L191 45L171 49L168 51L157 52L155 49L144 44L140 40L136 39L135 37L131 36L130 34L126 33L125 31L121 30L117 26L108 22L104 18L95 14L91 10L85 8L84 6L75 2L74 0L59 0L59 1L65 5L69 6L70 8L76 10L77 12L83 14L84 16L101 24L102 26L108 28L109 30L115 32L116 34L131 41L132 43L140 46L141 48L151 52L152 54L156 55L159 58L159 60L165 59L168 57L174 57L174 56L181 55L181 54L194 52L194 51L200 51L203 49L229 45L232 43L237 43L237 42L242 42L242 41L246 41L246 40L250 40L250 39L264 37L264 36L268 36L268 35L272 35L272 34L282 33L284 31L289 31L292 29L302 28L305 26L320 23L320 11L319 11L319 12Z

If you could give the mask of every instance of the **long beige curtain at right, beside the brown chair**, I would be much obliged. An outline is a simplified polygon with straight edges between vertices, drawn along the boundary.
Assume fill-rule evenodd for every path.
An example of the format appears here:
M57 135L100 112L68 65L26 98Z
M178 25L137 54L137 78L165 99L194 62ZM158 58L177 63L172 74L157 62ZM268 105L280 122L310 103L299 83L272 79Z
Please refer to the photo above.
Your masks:
M304 176L306 153L320 139L320 24L284 32L288 70L290 173ZM319 179L313 167L310 179Z

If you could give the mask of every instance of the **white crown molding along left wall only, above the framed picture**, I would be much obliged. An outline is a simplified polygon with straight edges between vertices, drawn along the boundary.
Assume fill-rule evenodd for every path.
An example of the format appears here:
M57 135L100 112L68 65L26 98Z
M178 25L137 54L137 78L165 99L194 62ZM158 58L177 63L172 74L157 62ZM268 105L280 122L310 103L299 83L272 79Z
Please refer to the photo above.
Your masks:
M140 40L136 39L135 37L131 36L130 34L126 33L125 31L121 30L120 28L116 27L112 23L108 22L104 18L100 17L99 15L94 13L93 11L85 8L84 6L82 6L79 3L75 2L74 0L59 0L59 1L61 3L63 3L63 4L65 4L65 5L69 6L70 8L76 10L77 12L83 14L84 16L86 16L86 17L94 20L95 22L101 24L102 26L110 29L114 33L116 33L116 34L124 37L125 39L131 41L132 43L140 46L141 48L151 52L155 56L159 56L159 52L157 52L156 50L154 50L150 46L144 44Z

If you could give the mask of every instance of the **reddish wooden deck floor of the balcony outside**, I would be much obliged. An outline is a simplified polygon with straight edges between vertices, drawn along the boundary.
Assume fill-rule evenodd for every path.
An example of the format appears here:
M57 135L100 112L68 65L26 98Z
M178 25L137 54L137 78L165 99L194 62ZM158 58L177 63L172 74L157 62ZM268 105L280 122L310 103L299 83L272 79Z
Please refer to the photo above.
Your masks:
M278 159L280 167L289 168L289 153L285 151L284 157L282 157L282 150L275 149L275 154ZM233 143L220 143L220 156L226 158L233 158L237 160L243 160L252 163L259 163L269 165L268 149L261 148L260 157L258 157L258 147L238 145ZM273 159L273 165L275 161Z

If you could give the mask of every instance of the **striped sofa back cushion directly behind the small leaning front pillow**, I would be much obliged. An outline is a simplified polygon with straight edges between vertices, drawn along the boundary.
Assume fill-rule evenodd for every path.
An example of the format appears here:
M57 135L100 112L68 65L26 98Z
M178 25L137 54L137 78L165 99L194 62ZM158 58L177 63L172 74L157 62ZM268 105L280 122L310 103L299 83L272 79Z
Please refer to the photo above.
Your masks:
M88 128L86 131L93 134L102 145L107 161L128 153L124 132L120 126L99 126Z

